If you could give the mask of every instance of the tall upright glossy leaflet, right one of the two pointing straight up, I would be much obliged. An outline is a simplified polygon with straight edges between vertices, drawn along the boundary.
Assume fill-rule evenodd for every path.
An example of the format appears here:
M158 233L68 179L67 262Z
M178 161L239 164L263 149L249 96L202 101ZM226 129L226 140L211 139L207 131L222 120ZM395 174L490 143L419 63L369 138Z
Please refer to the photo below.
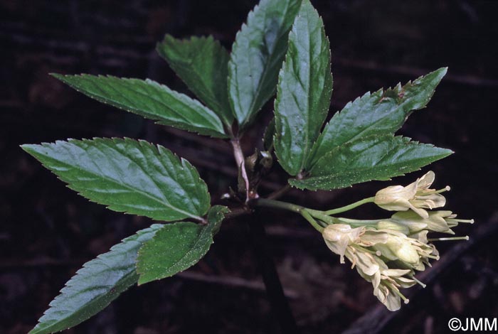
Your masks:
M275 99L275 154L292 176L309 166L331 95L329 41L322 18L303 0L289 33Z

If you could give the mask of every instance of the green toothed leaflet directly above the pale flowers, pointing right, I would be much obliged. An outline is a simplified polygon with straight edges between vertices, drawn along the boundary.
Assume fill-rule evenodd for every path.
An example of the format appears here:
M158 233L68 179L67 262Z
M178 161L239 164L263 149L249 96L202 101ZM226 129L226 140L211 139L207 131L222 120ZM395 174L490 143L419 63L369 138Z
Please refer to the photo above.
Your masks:
M369 136L338 146L320 158L310 177L290 180L297 188L329 190L417 171L452 151L401 136Z

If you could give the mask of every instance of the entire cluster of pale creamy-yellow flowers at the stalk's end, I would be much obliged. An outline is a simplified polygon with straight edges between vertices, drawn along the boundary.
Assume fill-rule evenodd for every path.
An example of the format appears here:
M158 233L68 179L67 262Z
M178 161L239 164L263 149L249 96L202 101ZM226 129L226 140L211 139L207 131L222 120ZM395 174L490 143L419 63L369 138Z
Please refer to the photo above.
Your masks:
M356 267L361 277L371 282L373 294L390 311L401 307L401 299L408 303L399 289L417 283L424 286L415 279L415 271L430 266L430 259L439 259L428 232L455 234L451 229L459 222L474 222L456 219L451 211L425 210L446 203L440 193L449 187L429 189L433 181L434 173L428 172L406 187L395 185L378 191L373 202L398 211L391 218L364 222L338 218L339 223L327 225L322 231L329 249L339 254L341 263L349 259L351 268Z

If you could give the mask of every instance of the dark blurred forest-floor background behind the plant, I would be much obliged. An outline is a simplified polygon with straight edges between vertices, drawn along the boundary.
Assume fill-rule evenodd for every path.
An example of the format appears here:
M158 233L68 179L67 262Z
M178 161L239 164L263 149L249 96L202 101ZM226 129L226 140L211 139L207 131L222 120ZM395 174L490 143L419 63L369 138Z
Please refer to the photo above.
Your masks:
M450 184L447 208L476 224L457 228L470 242L441 242L423 275L428 287L389 313L371 284L340 265L300 217L260 212L302 333L446 333L452 317L498 316L497 172L498 1L313 1L332 48L331 115L368 90L396 85L443 66L449 71L428 105L400 133L456 153L396 178L428 170ZM228 49L255 1L0 0L0 333L27 333L65 281L86 261L147 227L79 197L19 144L129 136L162 144L198 167L214 203L235 185L230 147L157 126L79 95L49 72L149 77L186 92L154 52L164 33L212 34ZM245 153L260 145L271 103L248 131ZM276 167L260 193L285 184ZM387 183L333 192L292 190L285 200L332 208L369 197ZM392 183L391 183L392 184ZM351 217L374 218L366 205ZM67 333L278 333L244 220L225 222L194 268L134 287ZM363 318L361 318L363 317ZM356 321L359 318L363 322ZM355 332L356 330L356 332Z

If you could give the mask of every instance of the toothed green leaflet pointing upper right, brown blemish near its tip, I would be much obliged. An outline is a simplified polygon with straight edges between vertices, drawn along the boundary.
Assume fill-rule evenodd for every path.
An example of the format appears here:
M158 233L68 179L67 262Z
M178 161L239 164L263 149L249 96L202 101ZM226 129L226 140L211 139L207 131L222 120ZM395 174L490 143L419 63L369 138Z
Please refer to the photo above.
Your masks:
M334 114L314 145L313 163L328 151L348 141L372 135L393 134L401 128L413 110L422 109L445 76L440 68L401 87L378 90L346 104Z

